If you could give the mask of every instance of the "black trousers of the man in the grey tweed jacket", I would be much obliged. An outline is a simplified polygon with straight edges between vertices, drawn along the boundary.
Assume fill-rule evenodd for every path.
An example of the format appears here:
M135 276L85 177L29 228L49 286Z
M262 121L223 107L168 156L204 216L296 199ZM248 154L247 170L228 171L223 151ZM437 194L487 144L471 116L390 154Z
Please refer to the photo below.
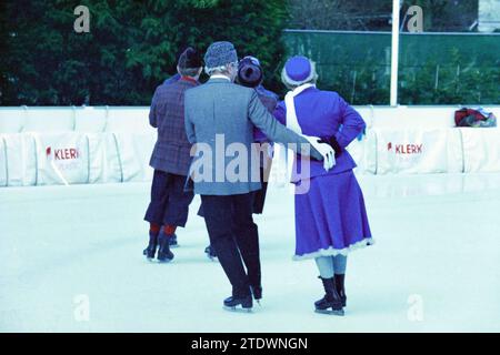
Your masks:
M232 295L247 296L250 285L261 284L259 232L252 217L253 193L201 195L201 202L210 244L232 285Z

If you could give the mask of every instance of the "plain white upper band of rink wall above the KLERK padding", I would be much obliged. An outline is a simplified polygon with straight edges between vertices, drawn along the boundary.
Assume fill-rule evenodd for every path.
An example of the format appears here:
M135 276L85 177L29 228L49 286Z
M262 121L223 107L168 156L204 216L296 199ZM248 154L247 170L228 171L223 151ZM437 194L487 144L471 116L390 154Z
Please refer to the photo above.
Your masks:
M467 104L467 108L478 108ZM354 105L368 129L453 128L462 105ZM500 120L500 105L484 105ZM21 132L151 132L148 106L3 106L0 134Z

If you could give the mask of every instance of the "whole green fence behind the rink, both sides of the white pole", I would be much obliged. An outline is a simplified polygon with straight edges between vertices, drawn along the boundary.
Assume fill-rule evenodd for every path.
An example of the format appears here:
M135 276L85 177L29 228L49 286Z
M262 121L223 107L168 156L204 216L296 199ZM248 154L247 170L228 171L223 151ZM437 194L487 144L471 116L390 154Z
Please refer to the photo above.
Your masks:
M500 103L500 33L401 33L399 103ZM286 30L289 55L317 62L322 89L388 104L390 32Z

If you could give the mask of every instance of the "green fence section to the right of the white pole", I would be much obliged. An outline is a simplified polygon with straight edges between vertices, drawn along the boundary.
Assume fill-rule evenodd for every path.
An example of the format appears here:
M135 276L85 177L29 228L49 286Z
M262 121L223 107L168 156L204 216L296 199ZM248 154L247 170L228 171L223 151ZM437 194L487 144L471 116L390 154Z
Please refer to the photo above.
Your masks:
M500 36L402 36L400 102L498 104L499 50Z

